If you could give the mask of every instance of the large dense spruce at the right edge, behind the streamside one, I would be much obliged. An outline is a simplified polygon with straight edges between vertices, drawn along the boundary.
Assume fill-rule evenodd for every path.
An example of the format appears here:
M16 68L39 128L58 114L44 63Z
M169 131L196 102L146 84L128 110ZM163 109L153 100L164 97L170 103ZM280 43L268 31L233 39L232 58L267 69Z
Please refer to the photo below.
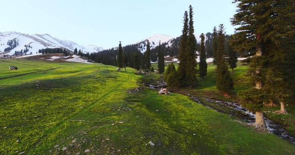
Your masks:
M292 0L272 1L269 5L271 5L269 8L273 14L271 18L268 18L268 24L272 25L272 29L266 38L269 38L272 43L269 43L267 48L269 65L264 89L267 94L271 95L270 99L275 99L280 103L281 109L276 113L287 114L285 104L288 100L292 100L291 97L295 97L292 96L295 94L293 80L295 79L295 68L290 67L295 66L295 3Z

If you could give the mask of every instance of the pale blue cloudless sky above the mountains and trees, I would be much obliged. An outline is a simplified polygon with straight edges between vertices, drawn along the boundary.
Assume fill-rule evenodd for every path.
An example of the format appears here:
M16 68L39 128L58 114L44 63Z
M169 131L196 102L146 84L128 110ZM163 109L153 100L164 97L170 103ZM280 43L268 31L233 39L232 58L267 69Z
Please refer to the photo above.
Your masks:
M195 34L211 32L220 23L232 34L230 18L236 10L232 1L7 0L0 2L0 32L50 34L109 48L119 41L126 45L158 33L180 36L183 13L192 5Z

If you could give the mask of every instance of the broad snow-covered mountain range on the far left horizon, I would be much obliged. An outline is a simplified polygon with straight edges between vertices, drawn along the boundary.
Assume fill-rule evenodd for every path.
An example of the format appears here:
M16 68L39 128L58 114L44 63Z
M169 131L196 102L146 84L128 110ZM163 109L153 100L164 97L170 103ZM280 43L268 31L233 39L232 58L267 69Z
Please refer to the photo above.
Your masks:
M60 40L49 34L29 35L19 32L0 32L0 54L13 55L15 51L23 51L27 54L36 55L43 48L66 48L74 50L77 48L83 52L94 53L101 51L102 47L95 45L79 45L70 40Z

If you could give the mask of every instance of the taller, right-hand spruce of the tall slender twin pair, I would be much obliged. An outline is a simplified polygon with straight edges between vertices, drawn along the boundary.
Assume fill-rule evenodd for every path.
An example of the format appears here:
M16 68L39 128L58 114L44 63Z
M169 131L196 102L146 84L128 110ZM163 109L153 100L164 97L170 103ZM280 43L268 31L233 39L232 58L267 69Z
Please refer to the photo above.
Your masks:
M194 35L194 19L193 7L189 6L189 22L188 22L188 37L187 37L187 62L186 62L186 79L188 85L191 87L197 82L197 40Z

